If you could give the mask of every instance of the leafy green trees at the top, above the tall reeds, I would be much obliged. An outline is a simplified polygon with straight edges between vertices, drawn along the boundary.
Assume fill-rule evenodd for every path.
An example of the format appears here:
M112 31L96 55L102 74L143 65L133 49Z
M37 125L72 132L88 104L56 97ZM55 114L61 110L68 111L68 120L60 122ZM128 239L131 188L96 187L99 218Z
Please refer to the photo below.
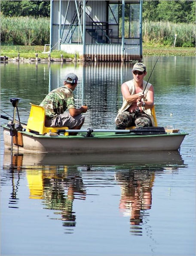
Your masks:
M128 5L127 8L129 7ZM0 0L0 8L3 15L10 17L50 16L49 0ZM126 11L129 11L129 8ZM143 0L144 20L153 22L195 23L195 15L195 0Z

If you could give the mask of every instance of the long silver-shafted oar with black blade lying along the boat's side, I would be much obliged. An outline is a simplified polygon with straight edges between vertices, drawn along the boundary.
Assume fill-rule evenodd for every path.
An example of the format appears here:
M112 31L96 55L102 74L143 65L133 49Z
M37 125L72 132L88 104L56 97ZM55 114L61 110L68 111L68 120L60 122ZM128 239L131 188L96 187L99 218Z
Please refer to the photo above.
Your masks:
M59 127L59 133L87 133L87 136L91 136L92 133L136 133L140 135L151 135L151 134L166 134L165 128L161 126L153 126L153 127L139 127L131 130L108 130L108 129L86 129L86 130L61 130Z

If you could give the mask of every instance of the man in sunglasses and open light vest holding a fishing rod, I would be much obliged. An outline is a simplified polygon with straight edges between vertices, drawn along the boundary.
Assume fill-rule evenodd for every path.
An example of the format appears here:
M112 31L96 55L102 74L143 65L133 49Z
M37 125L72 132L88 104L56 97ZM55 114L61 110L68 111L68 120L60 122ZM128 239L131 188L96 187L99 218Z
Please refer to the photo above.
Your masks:
M123 103L115 119L118 130L130 126L138 128L155 125L151 113L154 105L154 89L151 83L144 81L147 74L146 66L141 62L135 63L132 74L133 79L122 83L121 86Z

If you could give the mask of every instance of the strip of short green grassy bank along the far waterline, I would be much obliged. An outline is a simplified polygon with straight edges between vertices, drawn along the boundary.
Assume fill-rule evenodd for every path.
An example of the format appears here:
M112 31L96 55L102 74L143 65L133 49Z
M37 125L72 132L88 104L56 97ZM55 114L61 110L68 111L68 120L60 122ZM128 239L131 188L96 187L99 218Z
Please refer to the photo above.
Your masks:
M1 46L0 55L7 56L8 58L16 58L18 52L20 58L30 59L35 58L35 53L38 53L38 58L48 58L48 54L42 53L44 46ZM52 58L61 58L63 54L64 58L73 58L73 54L68 54L61 51L51 52ZM171 47L171 46L148 46L143 45L143 56L195 56L194 47Z

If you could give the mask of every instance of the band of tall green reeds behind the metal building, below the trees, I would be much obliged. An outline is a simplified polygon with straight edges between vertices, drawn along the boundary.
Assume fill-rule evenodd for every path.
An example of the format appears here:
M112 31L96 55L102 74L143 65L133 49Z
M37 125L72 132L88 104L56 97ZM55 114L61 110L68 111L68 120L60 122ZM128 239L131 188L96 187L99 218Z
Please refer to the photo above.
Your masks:
M122 19L119 21L119 36L122 31ZM44 45L49 43L49 18L34 17L5 17L1 15L1 43L18 45ZM129 32L130 30L130 32ZM172 45L175 34L175 46L195 47L196 28L193 23L175 24L172 22L142 23L143 41L147 44ZM125 37L139 37L139 22L132 22L129 26L125 22Z

